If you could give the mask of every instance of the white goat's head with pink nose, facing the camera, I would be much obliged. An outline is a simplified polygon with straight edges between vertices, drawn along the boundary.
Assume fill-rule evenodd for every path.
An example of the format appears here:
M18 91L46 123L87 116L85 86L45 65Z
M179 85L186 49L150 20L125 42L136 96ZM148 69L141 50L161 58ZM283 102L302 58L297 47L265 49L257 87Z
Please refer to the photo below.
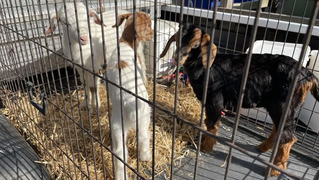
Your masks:
M80 32L80 42L82 45L84 45L90 42L87 9L82 2L77 2L76 8L77 8L77 17L78 17L79 32ZM75 40L76 42L79 42L78 29L77 29L76 17L75 17L75 8L74 8L73 2L66 3L66 12L67 12L67 22L65 18L64 6L59 7L59 10L57 13L56 12L51 13L51 17L50 17L51 25L48 26L46 34L50 35L53 31L55 31L59 21L59 24L62 25L64 30L66 30L66 28L68 27L70 40L72 39L72 40ZM94 22L96 24L101 25L101 20L95 10L89 8L88 14L90 15L90 17L94 18ZM67 35L67 32L64 32L64 33Z

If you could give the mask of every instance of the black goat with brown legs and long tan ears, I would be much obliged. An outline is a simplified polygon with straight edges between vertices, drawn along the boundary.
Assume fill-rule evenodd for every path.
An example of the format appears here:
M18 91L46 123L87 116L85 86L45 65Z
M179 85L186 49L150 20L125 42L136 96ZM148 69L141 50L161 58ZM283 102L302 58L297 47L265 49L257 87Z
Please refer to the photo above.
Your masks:
M173 41L178 42L178 33L170 37L160 57L163 57ZM196 97L202 100L203 81L207 65L207 52L210 36L193 24L183 27L180 65L185 67L189 75L190 83ZM174 63L177 61L175 52ZM241 79L247 54L221 54L213 45L212 59L209 62L210 73L206 101L207 130L218 134L218 121L221 118L221 110L224 106L236 107L240 91ZM275 126L271 135L265 142L259 144L258 149L266 152L272 148L278 129L281 115L285 107L289 85L295 72L297 61L284 55L253 54L249 69L246 90L244 93L243 108L264 107L268 110ZM318 78L302 68L299 80L293 95L293 100L288 111L287 121L284 127L280 145L275 157L275 164L287 168L289 151L296 137L294 128L298 113L304 103L308 91L319 101ZM237 112L240 113L240 112ZM216 140L210 136L204 136L201 149L212 151ZM271 171L271 176L279 175L276 170Z

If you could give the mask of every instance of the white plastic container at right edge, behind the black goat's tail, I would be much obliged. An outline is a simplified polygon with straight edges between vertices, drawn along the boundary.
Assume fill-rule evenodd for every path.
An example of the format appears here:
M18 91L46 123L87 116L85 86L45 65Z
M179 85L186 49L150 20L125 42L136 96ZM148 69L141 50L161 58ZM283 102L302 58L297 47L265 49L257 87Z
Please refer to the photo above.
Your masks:
M308 69L313 69L314 65L315 65L315 69L314 69L314 74L319 78L319 57L317 57L318 54L318 50L312 50L310 52L310 63L309 66L307 67ZM316 58L317 58L317 62L316 62ZM316 64L315 64L316 62ZM316 99L312 96L312 94L310 92L308 92L307 96L306 96L306 100L305 100L305 104L303 106L303 108L300 111L300 116L299 119L305 123L306 125L308 125L309 123L309 127L316 131L319 132L319 103L316 103ZM315 107L315 108L314 108ZM307 108L307 109L306 109ZM308 110L310 109L310 110ZM312 109L314 109L314 113L311 115ZM310 118L311 116L311 118ZM310 122L309 122L310 119Z

